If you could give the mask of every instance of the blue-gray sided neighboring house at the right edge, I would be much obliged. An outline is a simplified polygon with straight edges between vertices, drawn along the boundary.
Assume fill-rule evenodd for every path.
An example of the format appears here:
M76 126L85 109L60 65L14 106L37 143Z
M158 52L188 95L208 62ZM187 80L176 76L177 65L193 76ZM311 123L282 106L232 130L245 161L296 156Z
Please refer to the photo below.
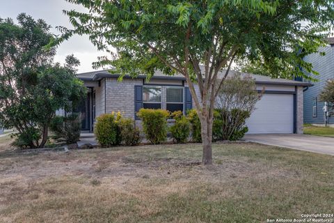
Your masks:
M319 53L305 56L304 61L312 63L314 70L319 72L318 82L312 82L313 86L307 87L304 91L304 122L317 125L324 125L324 102L319 101L319 94L326 86L329 79L334 79L334 38L328 38L329 45L321 47L319 52L325 52L325 56ZM308 74L310 75L310 74ZM328 124L334 125L334 117L328 117Z

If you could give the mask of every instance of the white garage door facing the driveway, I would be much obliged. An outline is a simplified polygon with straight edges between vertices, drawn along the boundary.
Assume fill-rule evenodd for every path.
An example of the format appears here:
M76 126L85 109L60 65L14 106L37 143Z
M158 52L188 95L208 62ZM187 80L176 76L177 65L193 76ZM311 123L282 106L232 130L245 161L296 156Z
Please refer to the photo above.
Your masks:
M264 93L246 125L248 134L293 133L294 95Z

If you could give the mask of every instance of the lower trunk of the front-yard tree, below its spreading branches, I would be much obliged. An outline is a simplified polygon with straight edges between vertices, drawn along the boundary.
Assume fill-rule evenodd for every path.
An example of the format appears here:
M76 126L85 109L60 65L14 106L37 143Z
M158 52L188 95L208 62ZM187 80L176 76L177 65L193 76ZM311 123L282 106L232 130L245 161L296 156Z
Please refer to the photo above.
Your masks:
M207 114L200 120L200 128L202 134L202 164L212 165L212 118Z

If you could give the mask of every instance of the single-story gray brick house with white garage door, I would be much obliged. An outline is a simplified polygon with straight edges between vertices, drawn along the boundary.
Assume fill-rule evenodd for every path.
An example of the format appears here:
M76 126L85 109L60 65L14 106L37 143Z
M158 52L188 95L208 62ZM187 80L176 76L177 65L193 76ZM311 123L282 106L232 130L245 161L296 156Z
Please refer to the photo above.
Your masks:
M77 77L88 88L87 98L81 106L83 131L92 132L95 118L101 114L122 112L136 119L136 112L142 107L172 112L185 112L194 107L186 80L181 75L166 76L157 72L150 82L143 75L125 76L118 82L119 75L102 70L80 73ZM303 89L310 84L261 75L251 77L255 79L257 90L264 88L265 91L246 122L248 133L303 133Z

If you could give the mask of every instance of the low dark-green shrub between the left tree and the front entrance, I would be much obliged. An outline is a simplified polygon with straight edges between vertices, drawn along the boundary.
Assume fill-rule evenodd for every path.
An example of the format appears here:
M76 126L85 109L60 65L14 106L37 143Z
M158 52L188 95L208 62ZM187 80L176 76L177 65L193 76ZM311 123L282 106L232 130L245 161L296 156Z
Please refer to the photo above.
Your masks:
M54 117L50 123L50 130L55 134L54 139L64 139L66 144L75 144L80 139L81 114Z

